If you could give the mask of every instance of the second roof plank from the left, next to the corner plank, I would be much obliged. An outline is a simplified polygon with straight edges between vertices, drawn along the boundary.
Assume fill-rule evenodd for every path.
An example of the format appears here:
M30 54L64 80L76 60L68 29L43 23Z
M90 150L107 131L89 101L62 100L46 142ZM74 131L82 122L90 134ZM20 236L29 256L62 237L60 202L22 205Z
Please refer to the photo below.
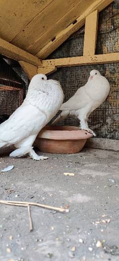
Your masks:
M22 30L11 43L26 50L46 30L51 28L78 0L54 0Z

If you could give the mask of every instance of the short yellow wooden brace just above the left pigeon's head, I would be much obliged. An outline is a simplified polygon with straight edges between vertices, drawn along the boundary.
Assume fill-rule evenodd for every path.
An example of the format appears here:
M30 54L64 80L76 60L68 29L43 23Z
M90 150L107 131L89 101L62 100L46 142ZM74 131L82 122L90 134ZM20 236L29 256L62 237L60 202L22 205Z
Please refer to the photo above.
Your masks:
M37 69L38 69L37 66L26 63L24 61L18 61L18 62L30 80L33 78L34 75L37 74Z

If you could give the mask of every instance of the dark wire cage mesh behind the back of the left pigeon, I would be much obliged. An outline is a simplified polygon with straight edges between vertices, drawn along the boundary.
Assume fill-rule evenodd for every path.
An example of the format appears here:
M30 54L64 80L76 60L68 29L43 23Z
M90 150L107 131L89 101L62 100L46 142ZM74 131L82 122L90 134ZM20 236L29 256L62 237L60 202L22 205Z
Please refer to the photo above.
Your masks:
M22 104L26 94L26 84L6 60L0 56L0 123Z

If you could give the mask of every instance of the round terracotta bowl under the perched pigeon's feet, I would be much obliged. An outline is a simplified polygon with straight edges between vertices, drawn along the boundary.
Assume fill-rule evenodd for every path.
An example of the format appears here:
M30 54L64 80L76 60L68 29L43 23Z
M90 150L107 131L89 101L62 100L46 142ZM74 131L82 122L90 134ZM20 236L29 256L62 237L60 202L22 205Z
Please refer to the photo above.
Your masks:
M35 145L42 152L72 154L82 150L93 135L74 126L46 126L39 132Z

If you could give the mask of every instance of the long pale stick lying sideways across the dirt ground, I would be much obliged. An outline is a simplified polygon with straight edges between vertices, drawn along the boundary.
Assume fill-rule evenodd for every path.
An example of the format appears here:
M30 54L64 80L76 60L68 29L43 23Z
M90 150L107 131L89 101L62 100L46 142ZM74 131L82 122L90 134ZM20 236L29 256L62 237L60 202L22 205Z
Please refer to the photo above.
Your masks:
M60 211L60 212L69 212L69 209L60 208L60 207L52 207L52 206L48 206L48 205L42 205L42 204L35 203L35 202L0 200L0 203L1 204L7 204L7 205L14 205L14 206L23 206L23 207L26 207L28 205L32 205L32 206L43 207L43 208L56 210L56 211Z

